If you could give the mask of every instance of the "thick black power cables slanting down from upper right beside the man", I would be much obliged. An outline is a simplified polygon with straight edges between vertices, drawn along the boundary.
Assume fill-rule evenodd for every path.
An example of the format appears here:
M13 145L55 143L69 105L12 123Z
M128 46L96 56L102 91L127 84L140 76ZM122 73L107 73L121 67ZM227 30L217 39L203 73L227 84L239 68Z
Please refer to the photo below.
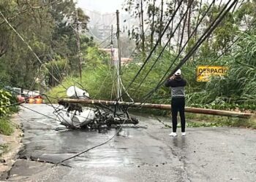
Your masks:
M162 79L160 79L159 83L157 84L156 87L154 87L154 89L152 89L150 92L148 92L146 95L143 96L143 101L141 102L141 104L145 103L146 100L148 98L150 98L154 92L156 92L159 87L162 86L162 84L164 84L165 79L172 76L177 70L178 68L181 68L181 66L184 65L184 63L187 62L187 60L189 60L189 58L192 57L192 55L195 54L195 51L198 49L198 47L200 47L201 44L203 44L203 41L205 41L210 35L211 33L215 30L215 28L217 28L217 26L219 25L219 23L225 18L225 15L227 15L228 12L230 12L230 9L232 9L237 3L238 0L234 0L231 3L232 0L227 1L227 3L224 5L224 7L222 8L222 10L219 12L219 14L217 15L217 17L214 19L214 21L208 25L208 28L206 28L206 30L204 31L203 35L200 36L199 39L197 39L196 43L193 45L193 47L189 50L189 52L187 52L187 54L184 56L184 58L181 59L180 63L178 63L178 65L176 66L176 68L173 68L173 65L176 63L176 61L180 58L181 53L184 52L184 49L187 47L187 44L189 43L189 40L192 39L192 36L195 34L195 31L197 30L198 26L200 25L200 23L202 23L203 19L206 17L207 13L209 12L209 10L211 9L211 7L214 6L215 1L212 1L211 4L208 6L208 9L206 10L206 12L203 14L203 16L200 18L200 20L198 21L195 29L192 31L191 35L189 36L189 38L187 39L186 43L184 44L184 46L181 48L181 50L178 52L178 55L176 56L176 58L173 60L173 62L170 64L170 67L167 69L167 71L165 72L165 74L162 76ZM148 64L149 60L151 59L151 56L153 55L153 52L157 49L157 46L159 44L159 41L162 39L162 36L164 36L165 31L167 30L167 28L169 27L170 23L173 21L173 18L175 17L176 13L178 12L178 9L181 7L181 4L183 3L183 1L180 1L177 8L175 9L175 11L173 12L173 15L171 15L170 20L168 20L168 22L165 25L164 30L162 31L161 36L159 37L159 39L157 40L157 43L154 45L154 47L152 48L152 50L149 52L146 60L144 61L144 63L142 64L142 66L140 66L140 69L138 70L138 72L135 74L135 76L133 77L132 81L129 82L128 86L127 86L127 91L129 90L129 88L131 87L131 85L135 82L135 79L138 78L138 76L140 75L141 71L143 70L143 68L146 67L146 64ZM231 4L230 4L231 3ZM230 6L228 7L228 5L230 4ZM191 5L191 4L190 4ZM189 7L187 8L189 9ZM184 13L184 15L187 15L187 10L186 13ZM181 20L184 18L185 16L181 17ZM181 20L178 23L178 25L181 24ZM178 25L176 26L176 28L178 28ZM176 29L175 28L175 29ZM170 36L171 37L171 36ZM170 39L170 38L169 38ZM168 40L169 41L169 40ZM168 42L167 42L168 43ZM137 87L137 89L141 86L141 84L145 81L146 77L148 76L148 74L153 70L154 65L159 61L159 58L161 57L162 52L164 52L165 48L167 47L167 44L165 44L165 47L162 49L162 51L160 52L159 56L157 57L157 59L154 61L153 65L151 66L151 68L149 69L149 71L147 72L146 76L144 76L143 81L140 82L139 86ZM170 72L170 70L173 68L173 71ZM170 74L168 74L170 73ZM168 75L168 76L167 76ZM122 95L121 95L122 96ZM121 98L121 97L120 97ZM118 98L117 101L120 99Z

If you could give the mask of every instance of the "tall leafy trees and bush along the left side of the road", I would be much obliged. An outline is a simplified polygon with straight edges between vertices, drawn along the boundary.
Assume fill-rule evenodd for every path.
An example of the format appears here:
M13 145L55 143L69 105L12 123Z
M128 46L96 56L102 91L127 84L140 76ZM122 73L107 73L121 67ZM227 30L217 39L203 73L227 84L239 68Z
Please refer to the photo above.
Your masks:
M45 91L64 76L78 72L73 26L77 23L79 30L85 31L89 17L76 9L73 1L2 0L0 12L0 89ZM93 44L92 38L81 36L81 53L86 55L86 48ZM7 135L12 132L10 114L17 109L9 106L17 103L10 97L0 91L0 133Z

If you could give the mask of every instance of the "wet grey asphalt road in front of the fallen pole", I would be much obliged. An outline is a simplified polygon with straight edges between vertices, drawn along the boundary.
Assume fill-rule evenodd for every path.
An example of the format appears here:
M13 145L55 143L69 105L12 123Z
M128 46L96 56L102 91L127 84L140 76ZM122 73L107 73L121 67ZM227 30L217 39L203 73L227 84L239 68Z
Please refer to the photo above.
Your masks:
M54 117L46 105L25 105ZM230 127L187 128L187 136L170 138L170 129L154 116L138 115L140 125L127 127L109 143L52 167L80 151L107 141L106 133L56 131L53 119L23 108L20 112L25 150L7 181L256 181L256 131ZM170 124L170 119L161 118ZM38 160L34 162L29 159ZM42 162L45 161L45 162Z

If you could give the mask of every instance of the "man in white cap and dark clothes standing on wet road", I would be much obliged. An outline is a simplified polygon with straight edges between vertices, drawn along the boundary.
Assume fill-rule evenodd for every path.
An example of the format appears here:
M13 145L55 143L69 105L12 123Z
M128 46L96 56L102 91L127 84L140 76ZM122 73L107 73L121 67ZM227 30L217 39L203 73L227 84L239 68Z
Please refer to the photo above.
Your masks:
M171 90L171 110L172 110L172 122L173 132L170 136L177 136L177 115L178 111L181 117L181 135L185 136L185 86L187 81L181 77L181 70L178 69L176 73L165 82L165 87L170 87Z

